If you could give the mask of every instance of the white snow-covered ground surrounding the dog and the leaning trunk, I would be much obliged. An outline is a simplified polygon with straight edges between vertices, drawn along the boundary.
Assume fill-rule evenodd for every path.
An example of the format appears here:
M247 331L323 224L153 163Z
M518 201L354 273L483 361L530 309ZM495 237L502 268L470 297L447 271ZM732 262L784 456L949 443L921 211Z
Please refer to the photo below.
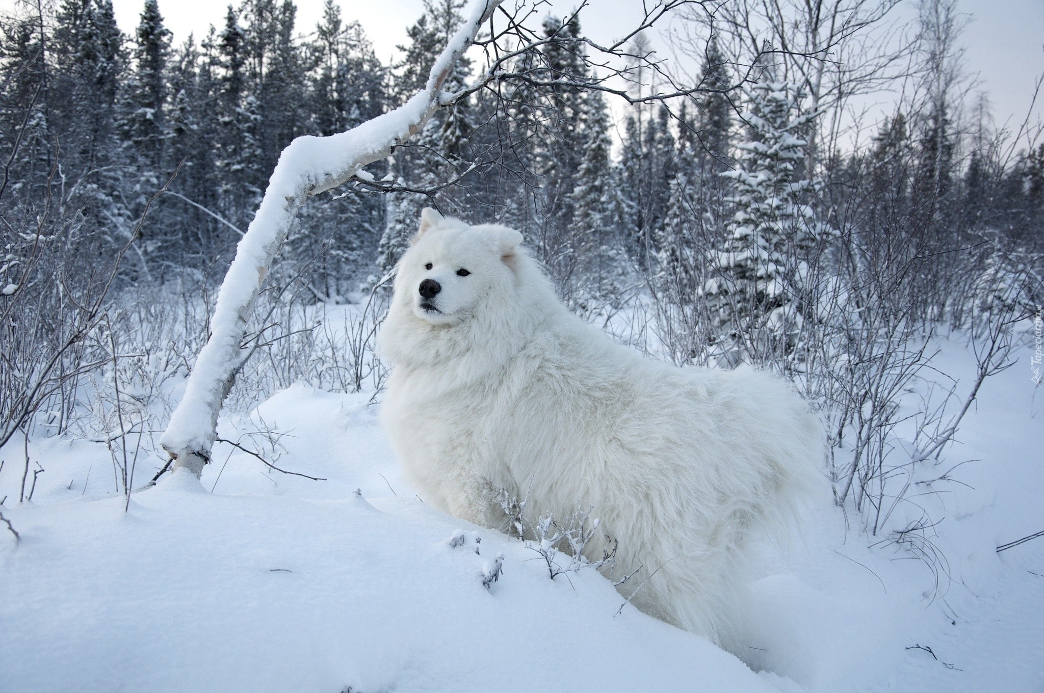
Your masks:
M942 347L933 365L970 380L963 342ZM996 552L1044 529L1044 392L1020 357L938 476L975 461L914 492L939 521L934 569L871 546L826 497L802 540L760 552L743 658L758 673L621 608L594 570L552 581L518 541L427 507L369 396L298 384L222 420L223 438L325 480L219 444L201 483L168 474L126 511L105 447L67 438L30 441L46 471L20 505L17 439L0 450L21 535L0 525L0 691L1044 691L1044 537ZM450 545L458 530L478 552Z

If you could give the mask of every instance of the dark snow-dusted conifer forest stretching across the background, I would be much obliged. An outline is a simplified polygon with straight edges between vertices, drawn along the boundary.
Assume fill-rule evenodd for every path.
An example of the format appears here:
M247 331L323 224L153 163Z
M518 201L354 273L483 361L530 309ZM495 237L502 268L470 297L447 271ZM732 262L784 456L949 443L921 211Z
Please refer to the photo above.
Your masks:
M4 233L29 233L47 214L87 256L115 254L136 236L122 281L220 276L282 148L301 135L346 130L416 93L461 5L427 3L392 65L333 0L315 27L295 25L290 0L244 0L229 6L222 26L180 45L156 0L133 35L120 32L109 0L26 5L2 22ZM727 32L710 29L692 51L702 53L692 57L705 93L626 105L614 122L602 92L576 86L597 76L583 59L578 19L545 18L539 30L549 41L539 56L519 58L531 63L536 86L482 90L436 114L372 169L402 190L357 186L313 200L285 262L307 273L316 300L342 300L390 269L421 207L433 205L521 229L568 295L619 291L643 276L691 273L684 265L693 262L713 266L708 252L737 244L730 237L743 195L762 193L780 209L814 214L814 228L832 228L827 236L902 217L932 253L986 233L1040 249L1044 145L1004 156L984 115L969 123L952 93L936 98L929 87L926 98L898 104L863 146L831 150L836 142L816 137L830 107L822 95L793 79L785 59L744 66L750 57L719 41ZM461 63L446 89L462 88L473 67ZM943 80L947 69L926 65L925 79ZM658 85L644 76L633 75L631 89L652 93ZM759 115L768 111L772 122ZM765 173L776 154L751 147L781 133L797 145L785 170ZM744 171L783 188L744 189Z

